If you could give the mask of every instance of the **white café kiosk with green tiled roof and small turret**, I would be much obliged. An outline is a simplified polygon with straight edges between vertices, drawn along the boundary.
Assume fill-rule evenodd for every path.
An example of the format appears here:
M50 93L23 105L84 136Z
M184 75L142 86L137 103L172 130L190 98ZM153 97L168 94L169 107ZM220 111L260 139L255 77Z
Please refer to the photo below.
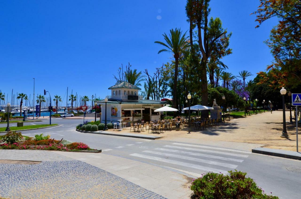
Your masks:
M107 102L107 122L138 123L141 121L158 121L160 114L154 110L161 108L166 104L164 101L143 99L138 95L141 88L130 84L129 82L121 82L109 87L111 95L106 96ZM96 102L101 105L101 122L105 122L105 102L100 100Z

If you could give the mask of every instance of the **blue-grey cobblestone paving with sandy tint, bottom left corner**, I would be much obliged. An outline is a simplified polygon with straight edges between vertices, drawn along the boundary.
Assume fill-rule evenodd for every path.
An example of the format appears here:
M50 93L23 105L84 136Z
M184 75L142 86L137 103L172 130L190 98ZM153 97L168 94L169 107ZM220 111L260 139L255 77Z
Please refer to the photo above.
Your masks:
M0 150L1 156L3 151L7 150ZM41 152L45 151L30 152L40 152L39 155L42 155ZM112 173L77 160L43 161L41 164L34 165L0 164L0 187L0 196L10 199L165 198Z

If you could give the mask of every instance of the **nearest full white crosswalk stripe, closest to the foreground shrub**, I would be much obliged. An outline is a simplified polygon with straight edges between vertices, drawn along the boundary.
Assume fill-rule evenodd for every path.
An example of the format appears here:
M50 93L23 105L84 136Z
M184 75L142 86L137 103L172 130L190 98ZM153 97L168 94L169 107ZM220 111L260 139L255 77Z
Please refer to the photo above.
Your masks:
M186 162L180 162L180 161L175 161L175 160L169 160L166 158L159 158L159 157L154 157L154 156L150 156L150 155L142 155L142 154L138 154L138 153L133 153L130 154L132 156L135 157L139 157L139 158L145 158L145 159L149 159L149 160L155 160L155 161L160 161L160 162L166 162L169 164L176 164L176 165L180 165L180 166L184 166L184 167L190 167L190 168L194 168L194 169L199 169L202 171L211 171L214 173L228 173L228 171L224 171L224 170L219 170L219 169L214 169L214 168L210 168L210 167L204 167L204 166L200 166L197 164L190 164L190 163L186 163Z

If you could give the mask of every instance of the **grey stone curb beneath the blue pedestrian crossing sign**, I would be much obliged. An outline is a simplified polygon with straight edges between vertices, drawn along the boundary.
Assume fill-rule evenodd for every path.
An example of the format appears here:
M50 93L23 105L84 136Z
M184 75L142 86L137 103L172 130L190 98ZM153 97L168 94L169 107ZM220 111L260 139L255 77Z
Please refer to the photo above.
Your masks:
M272 155L281 158L290 158L295 160L301 160L301 153L295 151L285 151L280 149L273 149L273 148L253 148L252 153L259 153L263 155Z

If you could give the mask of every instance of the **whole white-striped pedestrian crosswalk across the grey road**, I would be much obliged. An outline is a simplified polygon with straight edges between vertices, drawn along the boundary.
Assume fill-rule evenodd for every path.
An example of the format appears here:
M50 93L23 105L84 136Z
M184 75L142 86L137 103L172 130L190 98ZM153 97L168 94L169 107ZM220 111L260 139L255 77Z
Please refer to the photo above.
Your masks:
M153 164L188 174L228 173L236 169L251 152L197 144L172 143L130 154Z

